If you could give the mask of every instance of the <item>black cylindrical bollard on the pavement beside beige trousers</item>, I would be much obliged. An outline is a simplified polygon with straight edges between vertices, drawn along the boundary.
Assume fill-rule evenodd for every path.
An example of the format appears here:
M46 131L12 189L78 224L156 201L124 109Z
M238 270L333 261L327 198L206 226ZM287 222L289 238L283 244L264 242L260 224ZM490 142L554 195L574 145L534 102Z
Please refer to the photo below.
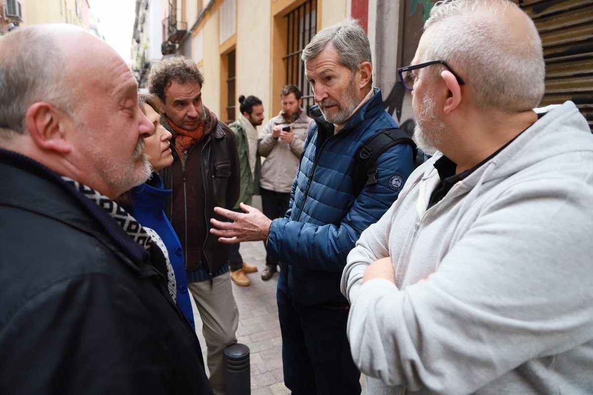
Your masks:
M224 349L227 395L251 394L249 348L235 343Z

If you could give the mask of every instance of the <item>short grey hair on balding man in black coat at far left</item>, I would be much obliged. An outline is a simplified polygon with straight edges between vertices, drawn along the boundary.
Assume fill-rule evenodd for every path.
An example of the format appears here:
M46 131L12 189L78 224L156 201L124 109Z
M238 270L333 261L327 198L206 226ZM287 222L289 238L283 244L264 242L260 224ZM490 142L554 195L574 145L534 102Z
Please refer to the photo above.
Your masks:
M24 133L25 114L39 101L72 113L62 50L43 26L0 37L0 131Z

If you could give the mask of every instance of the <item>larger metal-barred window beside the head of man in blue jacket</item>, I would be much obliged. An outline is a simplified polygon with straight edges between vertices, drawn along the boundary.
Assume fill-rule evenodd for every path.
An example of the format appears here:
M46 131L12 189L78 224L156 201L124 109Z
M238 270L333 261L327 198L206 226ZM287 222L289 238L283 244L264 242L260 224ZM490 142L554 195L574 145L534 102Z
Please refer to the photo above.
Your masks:
M305 77L305 66L301 60L302 50L317 33L317 0L308 0L286 14L288 20L288 55L282 59L286 65L286 84L299 87L302 92L302 107L309 111L315 104L313 90Z

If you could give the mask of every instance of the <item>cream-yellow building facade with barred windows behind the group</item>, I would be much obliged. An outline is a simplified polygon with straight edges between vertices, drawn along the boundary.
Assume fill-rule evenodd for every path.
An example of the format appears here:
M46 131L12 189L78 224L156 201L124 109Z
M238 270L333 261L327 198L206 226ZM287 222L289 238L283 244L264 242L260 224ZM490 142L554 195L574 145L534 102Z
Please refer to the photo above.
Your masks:
M311 106L313 95L300 51L318 28L346 18L350 3L356 1L152 2L160 2L164 12L162 56L193 59L206 79L202 89L206 106L221 120L232 122L241 94L259 97L268 118L277 114L280 88L288 83L301 87L305 105Z

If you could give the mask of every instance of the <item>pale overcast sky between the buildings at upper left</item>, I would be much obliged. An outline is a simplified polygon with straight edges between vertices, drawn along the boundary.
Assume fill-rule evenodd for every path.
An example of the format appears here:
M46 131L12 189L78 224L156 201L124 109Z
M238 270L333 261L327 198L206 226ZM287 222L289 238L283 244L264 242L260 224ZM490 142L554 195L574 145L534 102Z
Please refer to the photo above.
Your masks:
M129 63L136 1L88 0L88 4L100 20L99 31L107 44Z

